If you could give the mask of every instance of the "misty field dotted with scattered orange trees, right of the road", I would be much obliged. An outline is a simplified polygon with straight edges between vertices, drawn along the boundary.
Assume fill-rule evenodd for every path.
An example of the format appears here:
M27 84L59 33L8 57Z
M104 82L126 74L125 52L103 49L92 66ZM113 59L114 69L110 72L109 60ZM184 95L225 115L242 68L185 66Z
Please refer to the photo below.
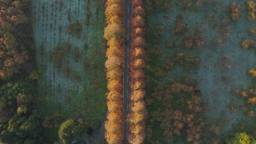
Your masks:
M247 1L155 2L144 1L146 143L234 143L244 132L254 141L255 45L241 46L256 39Z

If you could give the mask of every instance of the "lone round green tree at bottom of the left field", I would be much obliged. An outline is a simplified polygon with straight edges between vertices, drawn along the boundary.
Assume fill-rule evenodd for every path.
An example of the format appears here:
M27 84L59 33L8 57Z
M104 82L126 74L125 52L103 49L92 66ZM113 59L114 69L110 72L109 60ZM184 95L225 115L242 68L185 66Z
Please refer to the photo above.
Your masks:
M60 142L63 144L71 143L74 136L79 136L84 133L85 126L81 119L75 121L74 119L67 119L61 124L59 129Z

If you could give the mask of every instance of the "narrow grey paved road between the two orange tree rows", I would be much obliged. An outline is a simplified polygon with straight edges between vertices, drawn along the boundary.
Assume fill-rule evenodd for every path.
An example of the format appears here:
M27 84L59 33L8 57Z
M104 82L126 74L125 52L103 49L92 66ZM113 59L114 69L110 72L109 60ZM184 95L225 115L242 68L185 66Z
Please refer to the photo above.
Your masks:
M131 9L132 9L132 4L131 0L124 0L124 7L125 7L125 17L124 17L124 27L126 29L126 32L124 33L124 38L127 39L127 45L124 45L124 51L125 51L125 57L124 57L124 73L123 73L123 82L124 82L124 109L123 109L123 117L124 120L126 119L126 115L128 113L128 103L129 103L129 68L128 68L128 62L129 62L129 49L130 49L130 41L132 39L130 32L131 29L129 27L129 20L131 17ZM126 136L127 136L127 122L124 121L124 142L123 143L128 143Z

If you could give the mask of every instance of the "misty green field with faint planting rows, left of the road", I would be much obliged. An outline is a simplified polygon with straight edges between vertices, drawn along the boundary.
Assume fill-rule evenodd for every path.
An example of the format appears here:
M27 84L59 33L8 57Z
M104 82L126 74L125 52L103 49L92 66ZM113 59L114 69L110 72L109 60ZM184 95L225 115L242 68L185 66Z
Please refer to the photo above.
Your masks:
M46 136L57 140L59 124L67 118L82 118L96 134L106 115L104 1L34 0L31 7L37 65L43 69L38 109L43 119L54 121ZM72 23L79 23L81 31L67 33ZM61 59L53 53L55 46L65 49Z

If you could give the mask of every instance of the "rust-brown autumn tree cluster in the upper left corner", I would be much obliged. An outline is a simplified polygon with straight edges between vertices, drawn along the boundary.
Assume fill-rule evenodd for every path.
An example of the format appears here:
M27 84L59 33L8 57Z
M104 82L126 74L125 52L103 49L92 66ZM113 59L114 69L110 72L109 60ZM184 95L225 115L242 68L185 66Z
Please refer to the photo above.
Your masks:
M28 0L0 2L0 79L9 80L20 73L30 51L30 26L25 10Z

